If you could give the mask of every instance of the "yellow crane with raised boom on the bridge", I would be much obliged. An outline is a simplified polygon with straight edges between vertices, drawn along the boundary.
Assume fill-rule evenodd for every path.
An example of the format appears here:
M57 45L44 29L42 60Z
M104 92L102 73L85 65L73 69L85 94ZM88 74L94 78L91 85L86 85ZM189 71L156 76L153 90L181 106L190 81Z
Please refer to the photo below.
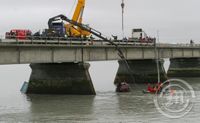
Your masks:
M83 12L85 8L85 0L78 0L76 9L74 11L72 20L82 24ZM65 24L66 34L70 37L88 37L91 35L90 32L81 29L73 24Z

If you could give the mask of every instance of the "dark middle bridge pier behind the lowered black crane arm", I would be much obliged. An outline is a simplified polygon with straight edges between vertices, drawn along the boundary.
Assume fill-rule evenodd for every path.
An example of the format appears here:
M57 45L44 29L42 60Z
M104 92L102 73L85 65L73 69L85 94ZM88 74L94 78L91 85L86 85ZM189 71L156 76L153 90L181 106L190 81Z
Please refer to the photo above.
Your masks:
M129 60L127 61L130 69L133 72L133 77L136 83L157 83L157 64L156 60ZM161 81L167 79L166 72L163 67L164 60L159 62ZM123 61L119 61L119 69L115 78L115 84L126 81L128 83L133 83L129 71Z

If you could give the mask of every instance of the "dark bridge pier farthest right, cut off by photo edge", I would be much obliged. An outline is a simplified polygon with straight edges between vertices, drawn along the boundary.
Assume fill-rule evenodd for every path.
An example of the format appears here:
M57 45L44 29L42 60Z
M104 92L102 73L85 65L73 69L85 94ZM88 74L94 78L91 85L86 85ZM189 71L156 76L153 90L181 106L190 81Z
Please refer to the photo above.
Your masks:
M199 77L200 58L170 59L169 77Z

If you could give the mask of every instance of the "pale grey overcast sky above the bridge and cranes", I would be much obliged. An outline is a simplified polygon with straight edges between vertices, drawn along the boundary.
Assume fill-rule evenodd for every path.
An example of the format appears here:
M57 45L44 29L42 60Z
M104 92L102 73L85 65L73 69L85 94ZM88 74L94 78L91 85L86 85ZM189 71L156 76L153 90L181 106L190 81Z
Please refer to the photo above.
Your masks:
M0 35L13 28L33 32L47 27L50 17L71 18L75 0L1 0ZM121 36L121 0L86 0L84 23L110 36ZM199 0L125 0L126 36L132 28L143 28L160 41L200 41Z

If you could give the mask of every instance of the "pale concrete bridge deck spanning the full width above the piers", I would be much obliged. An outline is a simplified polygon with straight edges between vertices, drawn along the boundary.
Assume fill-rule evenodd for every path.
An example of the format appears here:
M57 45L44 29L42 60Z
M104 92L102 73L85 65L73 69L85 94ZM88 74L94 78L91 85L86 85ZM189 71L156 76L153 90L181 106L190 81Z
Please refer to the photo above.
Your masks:
M117 43L117 42L116 42ZM152 43L119 42L127 59L155 59ZM160 58L200 57L199 44L157 44ZM0 42L0 64L119 60L114 46L103 41Z

